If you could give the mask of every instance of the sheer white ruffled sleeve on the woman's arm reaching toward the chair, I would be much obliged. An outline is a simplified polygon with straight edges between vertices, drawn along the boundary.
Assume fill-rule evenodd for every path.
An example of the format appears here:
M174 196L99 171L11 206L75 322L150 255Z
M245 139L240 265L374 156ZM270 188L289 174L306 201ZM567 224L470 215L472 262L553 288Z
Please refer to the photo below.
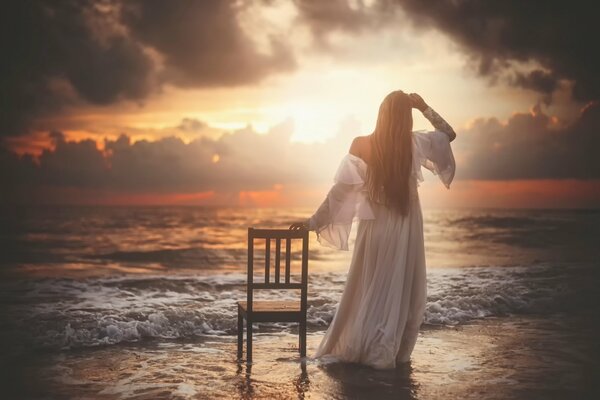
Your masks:
M334 183L321 206L308 219L309 230L324 246L348 250L354 217L374 219L365 189L366 165L351 153L342 159Z

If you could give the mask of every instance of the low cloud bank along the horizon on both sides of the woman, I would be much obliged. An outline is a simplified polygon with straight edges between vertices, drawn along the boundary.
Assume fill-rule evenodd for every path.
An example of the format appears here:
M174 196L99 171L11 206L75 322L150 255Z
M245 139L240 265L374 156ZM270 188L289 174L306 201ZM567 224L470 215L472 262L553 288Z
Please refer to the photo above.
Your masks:
M593 154L600 145L598 127L599 103L588 105L569 124L540 105L504 122L477 119L453 142L457 180L598 180L600 161ZM189 143L174 136L132 142L127 135L104 143L69 141L51 132L53 148L37 158L0 151L0 168L10 171L0 177L0 185L3 201L16 202L32 201L31 193L40 193L39 188L126 195L214 192L234 199L275 187L306 191L331 184L358 130L344 126L324 143L293 142L291 121L265 134L246 127Z

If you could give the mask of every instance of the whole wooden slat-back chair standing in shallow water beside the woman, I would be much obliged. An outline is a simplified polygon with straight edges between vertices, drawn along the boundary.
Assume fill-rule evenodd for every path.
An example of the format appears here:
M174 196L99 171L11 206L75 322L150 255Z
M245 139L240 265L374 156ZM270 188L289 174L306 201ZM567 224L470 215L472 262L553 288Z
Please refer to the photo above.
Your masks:
M264 282L254 282L254 240L265 239ZM274 279L271 280L271 239L275 239ZM300 282L291 282L291 241L302 240ZM281 273L281 241L285 240L285 271ZM238 301L238 359L242 358L246 320L246 362L252 361L252 324L255 322L298 322L300 356L306 356L306 297L308 284L308 231L248 228L248 283L246 301ZM299 301L253 300L255 290L300 289Z

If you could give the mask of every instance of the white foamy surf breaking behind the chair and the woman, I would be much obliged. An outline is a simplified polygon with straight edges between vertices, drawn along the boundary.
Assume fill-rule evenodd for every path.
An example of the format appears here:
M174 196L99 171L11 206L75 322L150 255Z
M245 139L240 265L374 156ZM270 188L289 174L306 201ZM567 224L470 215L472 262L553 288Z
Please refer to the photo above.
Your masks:
M428 271L424 323L457 325L486 317L576 309L593 301L581 292L574 295L582 283L573 281L576 276L589 276L589 271L551 265L433 269ZM34 346L52 349L233 335L236 301L245 298L245 279L244 274L231 273L22 281L8 290L9 329ZM311 277L309 329L327 328L344 281L343 273ZM594 293L589 289L585 293ZM275 292L262 298L294 297ZM296 327L265 323L255 329L260 334Z

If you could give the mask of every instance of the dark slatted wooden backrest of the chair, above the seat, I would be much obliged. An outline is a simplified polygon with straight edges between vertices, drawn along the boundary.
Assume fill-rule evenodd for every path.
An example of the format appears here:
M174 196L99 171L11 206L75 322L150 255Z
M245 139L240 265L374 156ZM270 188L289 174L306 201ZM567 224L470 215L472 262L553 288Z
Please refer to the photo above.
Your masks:
M254 282L254 241L265 239L264 282ZM271 268L271 240L275 240L275 262ZM291 282L292 240L302 240L300 282ZM281 273L281 241L285 241L285 270ZM271 274L273 271L273 274ZM271 279L273 275L273 279ZM283 276L282 276L283 275ZM305 229L248 228L248 311L252 311L254 289L300 289L300 310L306 312L308 287L308 231Z

